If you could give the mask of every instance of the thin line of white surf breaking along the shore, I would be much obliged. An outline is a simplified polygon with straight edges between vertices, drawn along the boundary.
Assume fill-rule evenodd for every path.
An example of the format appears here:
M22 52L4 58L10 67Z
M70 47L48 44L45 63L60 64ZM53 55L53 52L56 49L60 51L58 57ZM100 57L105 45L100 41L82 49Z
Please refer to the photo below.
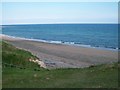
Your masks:
M115 48L115 47L107 47L107 46L85 45L85 44L76 43L76 42L64 42L64 41L52 41L52 40L32 39L32 38L10 36L10 35L6 35L6 34L0 34L0 36L1 35L2 36L7 36L7 37L10 37L10 38L15 38L15 39L38 41L38 42L44 42L44 43L62 44L62 45L70 45L70 46L80 46L80 47L97 48L97 49L114 50L114 51L118 51L119 50L118 47Z

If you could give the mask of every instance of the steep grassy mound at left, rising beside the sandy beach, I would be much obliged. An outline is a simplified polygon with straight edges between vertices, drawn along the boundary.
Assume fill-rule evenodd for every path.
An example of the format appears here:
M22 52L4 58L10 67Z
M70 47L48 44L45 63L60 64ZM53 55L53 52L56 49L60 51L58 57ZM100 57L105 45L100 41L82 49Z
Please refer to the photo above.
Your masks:
M2 63L3 67L8 65L15 65L17 67L32 68L38 67L37 64L29 62L29 59L37 59L36 56L33 56L30 52L24 51L14 46L3 42L2 43Z

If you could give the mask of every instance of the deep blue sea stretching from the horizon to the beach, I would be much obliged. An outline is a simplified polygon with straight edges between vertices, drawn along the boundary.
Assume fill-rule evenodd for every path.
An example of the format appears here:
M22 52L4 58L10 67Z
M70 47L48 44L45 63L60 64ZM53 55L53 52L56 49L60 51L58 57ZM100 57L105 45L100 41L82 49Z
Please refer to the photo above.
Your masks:
M49 43L118 49L118 24L3 25L2 34Z

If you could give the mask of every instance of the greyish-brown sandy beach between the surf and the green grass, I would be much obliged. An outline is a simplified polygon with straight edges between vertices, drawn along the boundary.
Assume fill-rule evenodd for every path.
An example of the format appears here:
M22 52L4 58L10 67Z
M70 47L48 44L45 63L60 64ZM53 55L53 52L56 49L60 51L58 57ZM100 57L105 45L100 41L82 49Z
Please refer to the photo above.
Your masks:
M50 44L2 35L12 45L30 51L42 60L47 68L83 68L118 61L118 52L96 48Z

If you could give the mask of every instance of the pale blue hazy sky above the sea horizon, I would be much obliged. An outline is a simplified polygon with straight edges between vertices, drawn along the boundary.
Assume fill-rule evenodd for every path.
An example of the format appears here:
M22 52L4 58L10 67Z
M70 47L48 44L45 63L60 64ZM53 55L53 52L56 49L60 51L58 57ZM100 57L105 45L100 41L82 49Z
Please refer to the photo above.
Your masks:
M1 4L2 24L118 22L117 2L2 2Z

